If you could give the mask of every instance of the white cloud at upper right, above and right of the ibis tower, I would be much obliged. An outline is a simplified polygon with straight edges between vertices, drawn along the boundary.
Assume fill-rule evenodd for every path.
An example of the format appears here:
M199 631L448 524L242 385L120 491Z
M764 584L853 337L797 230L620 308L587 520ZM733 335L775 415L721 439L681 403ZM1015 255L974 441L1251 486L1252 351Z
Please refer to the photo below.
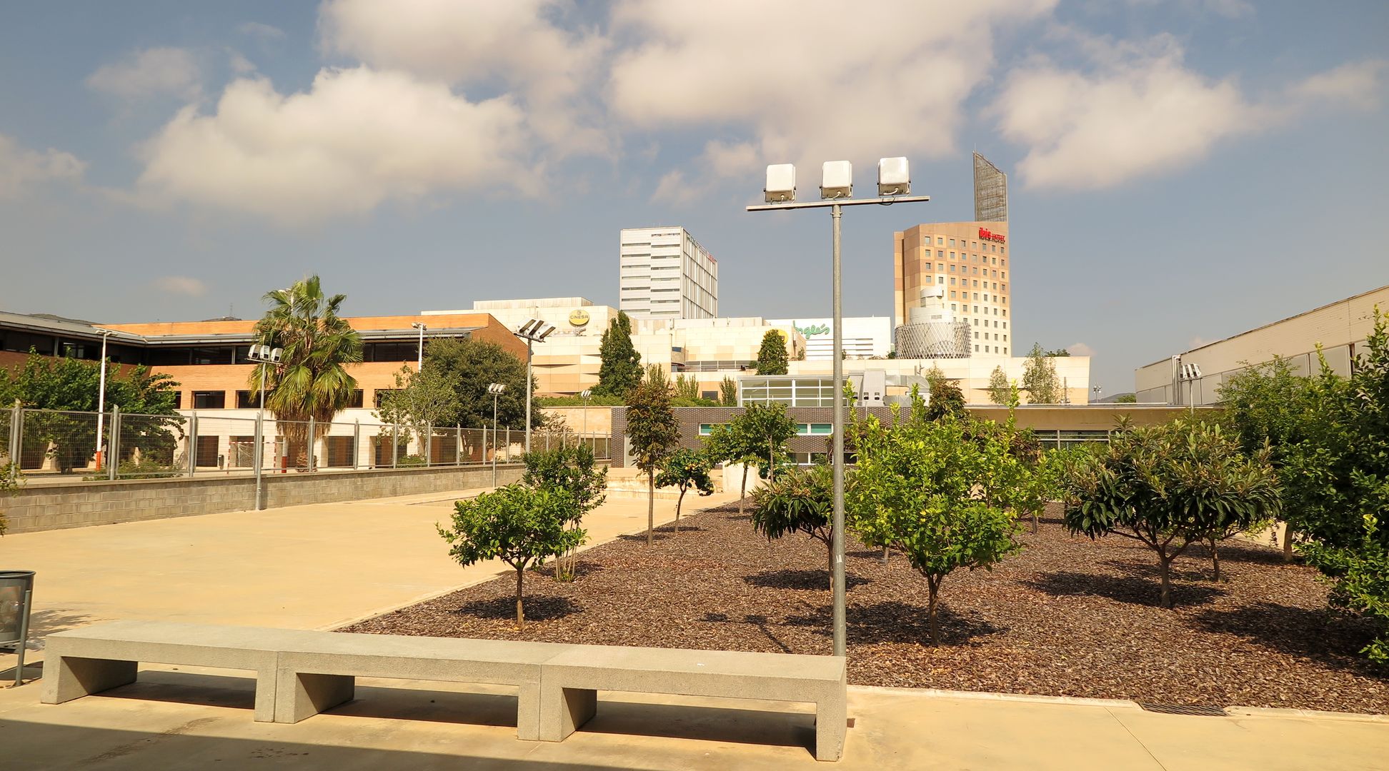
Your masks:
M1167 36L1081 47L1092 68L1035 60L1007 76L989 108L1000 133L1028 147L1018 173L1029 187L1103 189L1183 168L1215 143L1265 130L1314 101L1372 96L1381 68L1338 68L1257 100L1232 78L1188 68Z

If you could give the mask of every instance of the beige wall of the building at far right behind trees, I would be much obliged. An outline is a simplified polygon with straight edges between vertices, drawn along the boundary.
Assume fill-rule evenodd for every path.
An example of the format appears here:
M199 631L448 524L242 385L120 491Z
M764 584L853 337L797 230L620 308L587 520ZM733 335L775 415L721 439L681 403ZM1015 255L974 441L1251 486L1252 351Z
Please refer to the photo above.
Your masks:
M1149 404L1215 404L1225 380L1274 356L1289 359L1303 374L1317 374L1318 345L1332 372L1349 377L1356 356L1365 352L1376 305L1389 309L1389 286L1140 366L1133 372L1133 392ZM1200 376L1183 377L1181 365L1196 365ZM1195 374L1190 367L1188 373Z

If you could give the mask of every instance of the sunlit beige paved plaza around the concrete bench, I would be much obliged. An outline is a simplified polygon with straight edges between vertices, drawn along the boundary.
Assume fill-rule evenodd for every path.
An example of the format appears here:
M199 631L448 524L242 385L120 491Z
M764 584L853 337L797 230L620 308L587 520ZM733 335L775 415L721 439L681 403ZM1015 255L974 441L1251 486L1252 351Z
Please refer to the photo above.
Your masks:
M18 534L0 539L0 555L39 571L38 636L114 618L325 630L510 573L460 569L433 530L453 499L476 492ZM657 501L658 521L672 512ZM593 544L639 532L646 502L614 498L585 526ZM31 677L42 659L32 652ZM0 657L0 678L13 663ZM0 689L0 768L1372 770L1389 757L1382 717L1192 717L1129 702L850 686L845 760L828 765L808 749L808 704L608 696L582 731L540 743L515 739L504 688L361 678L356 700L281 725L251 721L251 681L238 674L147 667L138 684L56 706L38 703L32 681Z

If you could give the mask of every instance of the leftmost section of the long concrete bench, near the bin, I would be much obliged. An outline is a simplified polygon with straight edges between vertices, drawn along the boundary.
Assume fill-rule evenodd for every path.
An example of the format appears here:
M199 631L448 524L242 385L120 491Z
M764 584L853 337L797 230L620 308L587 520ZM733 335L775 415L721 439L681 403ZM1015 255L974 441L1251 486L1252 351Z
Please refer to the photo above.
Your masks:
M135 682L138 664L183 664L256 673L256 720L275 720L279 652L315 632L210 627L169 621L107 621L54 632L44 645L44 704L61 704Z

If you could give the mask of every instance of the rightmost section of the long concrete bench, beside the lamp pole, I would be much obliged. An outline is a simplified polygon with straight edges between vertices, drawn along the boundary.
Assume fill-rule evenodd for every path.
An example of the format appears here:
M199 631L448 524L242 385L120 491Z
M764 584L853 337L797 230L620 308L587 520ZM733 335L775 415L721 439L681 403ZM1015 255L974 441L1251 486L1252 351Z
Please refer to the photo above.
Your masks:
M542 668L540 739L561 742L597 711L599 691L815 704L815 759L839 760L847 734L842 656L568 645Z

